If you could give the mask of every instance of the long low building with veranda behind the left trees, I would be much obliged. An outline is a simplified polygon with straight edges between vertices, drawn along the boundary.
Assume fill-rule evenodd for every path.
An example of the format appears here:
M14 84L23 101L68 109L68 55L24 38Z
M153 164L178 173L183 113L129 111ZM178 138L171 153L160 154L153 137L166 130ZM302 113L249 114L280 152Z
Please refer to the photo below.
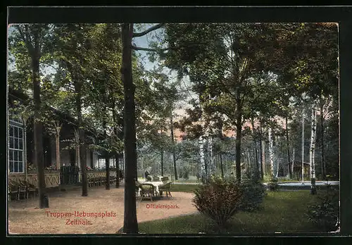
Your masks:
M31 168L35 168L34 163L34 133L33 118L28 116L23 120L18 108L25 106L30 101L27 95L9 88L8 91L8 174L10 180L27 179L28 182L36 184L37 173ZM59 140L56 134L43 127L43 150L44 167L46 171L46 186L57 186L60 184L60 169L65 166L78 166L80 168L80 158L78 147L75 144L75 132L77 132L77 120L48 107L53 113L53 119L61 125ZM87 166L96 168L99 166L99 152L89 148L96 139L101 139L101 134L92 129L84 130L84 142L87 147ZM56 157L56 142L59 142L59 162ZM111 165L115 161L111 159ZM104 161L105 165L105 161ZM32 180L31 180L32 179Z

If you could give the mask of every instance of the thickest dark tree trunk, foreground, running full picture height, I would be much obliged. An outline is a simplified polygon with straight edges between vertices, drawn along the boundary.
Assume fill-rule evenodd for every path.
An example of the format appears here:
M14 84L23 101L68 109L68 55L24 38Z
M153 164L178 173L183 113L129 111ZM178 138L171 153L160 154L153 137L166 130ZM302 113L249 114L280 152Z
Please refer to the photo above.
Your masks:
M136 194L134 180L137 178L136 122L132 80L132 35L133 24L122 24L122 82L125 94L125 215L123 232L138 233Z

